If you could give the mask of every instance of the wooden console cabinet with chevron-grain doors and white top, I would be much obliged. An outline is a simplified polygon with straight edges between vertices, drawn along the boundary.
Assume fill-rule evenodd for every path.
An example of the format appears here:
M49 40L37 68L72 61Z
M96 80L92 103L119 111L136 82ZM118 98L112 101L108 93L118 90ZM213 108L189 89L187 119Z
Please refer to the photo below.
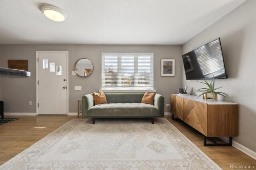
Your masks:
M204 134L205 137L238 136L237 103L210 102L211 100L196 98L197 96L194 95L171 95L171 113Z

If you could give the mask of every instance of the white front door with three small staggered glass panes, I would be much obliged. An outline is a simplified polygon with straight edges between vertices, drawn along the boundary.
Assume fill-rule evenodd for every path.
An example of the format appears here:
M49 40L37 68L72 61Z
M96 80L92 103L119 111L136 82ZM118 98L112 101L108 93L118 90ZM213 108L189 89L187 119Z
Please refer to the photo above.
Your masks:
M38 115L67 115L67 57L62 51L37 51Z

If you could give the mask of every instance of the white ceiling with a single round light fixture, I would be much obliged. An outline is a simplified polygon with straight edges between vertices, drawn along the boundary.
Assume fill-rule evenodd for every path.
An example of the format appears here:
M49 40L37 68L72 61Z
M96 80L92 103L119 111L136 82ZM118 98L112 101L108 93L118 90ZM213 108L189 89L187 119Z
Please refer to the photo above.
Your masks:
M0 0L0 44L179 45L244 1ZM46 18L46 4L68 18Z

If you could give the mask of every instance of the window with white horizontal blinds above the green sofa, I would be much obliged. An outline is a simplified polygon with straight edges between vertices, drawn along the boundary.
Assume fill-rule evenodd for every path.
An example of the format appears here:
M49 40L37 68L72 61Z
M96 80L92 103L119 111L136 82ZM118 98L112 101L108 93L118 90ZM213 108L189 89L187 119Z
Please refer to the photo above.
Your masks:
M154 53L102 53L102 90L153 90Z

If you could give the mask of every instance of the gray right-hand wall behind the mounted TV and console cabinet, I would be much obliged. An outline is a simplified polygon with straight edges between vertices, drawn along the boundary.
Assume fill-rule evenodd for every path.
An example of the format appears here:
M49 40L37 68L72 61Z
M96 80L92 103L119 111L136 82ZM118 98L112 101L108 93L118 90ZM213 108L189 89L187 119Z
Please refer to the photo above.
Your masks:
M256 151L256 12L255 0L247 0L238 8L183 44L183 54L218 37L228 79L216 80L216 87L227 93L224 100L239 103L239 136L234 141ZM182 69L182 85L192 91L204 87L194 80L186 80ZM200 93L196 93L198 95ZM218 96L219 98L219 96Z

